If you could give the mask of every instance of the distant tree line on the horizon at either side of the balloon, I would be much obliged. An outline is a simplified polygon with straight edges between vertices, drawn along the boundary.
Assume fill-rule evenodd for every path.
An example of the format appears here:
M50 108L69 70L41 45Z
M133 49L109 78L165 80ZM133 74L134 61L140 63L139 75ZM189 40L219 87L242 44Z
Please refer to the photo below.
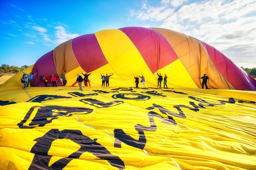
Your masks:
M9 66L8 64L2 64L0 67L0 74L16 74L18 72L23 71L24 69L28 68L29 66L24 65L21 67L17 66ZM246 71L249 75L255 75L256 76L256 67L253 67L251 69L241 67L244 71Z

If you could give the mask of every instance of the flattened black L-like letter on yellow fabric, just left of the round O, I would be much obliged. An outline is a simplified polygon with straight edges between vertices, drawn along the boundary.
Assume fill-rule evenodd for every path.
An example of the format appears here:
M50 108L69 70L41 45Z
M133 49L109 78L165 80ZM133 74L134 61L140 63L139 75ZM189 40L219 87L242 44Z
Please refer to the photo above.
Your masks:
M99 100L96 100L96 99L81 99L79 100L85 104L90 104L91 106L94 106L94 107L97 107L97 108L107 108L107 107L112 107L112 106L116 106L116 105L119 105L119 104L122 104L124 103L123 101L111 101L111 102L108 102L108 103L105 103L103 101L99 101Z

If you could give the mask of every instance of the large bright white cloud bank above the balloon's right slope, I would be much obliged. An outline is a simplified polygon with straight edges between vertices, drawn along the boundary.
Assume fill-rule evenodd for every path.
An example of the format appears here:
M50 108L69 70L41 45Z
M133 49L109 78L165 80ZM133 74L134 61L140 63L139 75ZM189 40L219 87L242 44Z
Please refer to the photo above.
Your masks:
M255 67L256 0L206 0L178 8L184 2L161 0L159 6L143 3L140 10L133 10L133 16L141 21L158 21L157 27L203 40L238 66L247 63L246 67Z

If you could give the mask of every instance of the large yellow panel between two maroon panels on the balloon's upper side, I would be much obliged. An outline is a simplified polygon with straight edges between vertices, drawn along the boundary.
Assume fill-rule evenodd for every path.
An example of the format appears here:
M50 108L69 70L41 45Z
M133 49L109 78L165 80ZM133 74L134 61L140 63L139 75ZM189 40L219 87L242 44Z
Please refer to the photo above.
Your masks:
M138 74L152 74L135 45L124 32L118 29L102 30L95 33L99 46L108 63L121 77Z

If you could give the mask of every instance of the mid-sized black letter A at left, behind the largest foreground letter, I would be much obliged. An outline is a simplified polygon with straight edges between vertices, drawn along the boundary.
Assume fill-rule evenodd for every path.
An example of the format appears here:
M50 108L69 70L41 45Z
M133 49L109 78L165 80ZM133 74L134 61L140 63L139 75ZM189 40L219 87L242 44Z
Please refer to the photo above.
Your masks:
M35 117L29 123L29 126L24 126L24 123L31 117L32 112L38 109ZM51 123L52 120L58 119L61 116L71 116L73 114L90 114L93 112L93 109L85 108L85 107L67 107L67 106L33 106L26 113L23 120L17 125L19 128L35 128L35 127L43 127L44 125ZM73 114L70 114L73 113ZM69 115L68 115L69 114Z

